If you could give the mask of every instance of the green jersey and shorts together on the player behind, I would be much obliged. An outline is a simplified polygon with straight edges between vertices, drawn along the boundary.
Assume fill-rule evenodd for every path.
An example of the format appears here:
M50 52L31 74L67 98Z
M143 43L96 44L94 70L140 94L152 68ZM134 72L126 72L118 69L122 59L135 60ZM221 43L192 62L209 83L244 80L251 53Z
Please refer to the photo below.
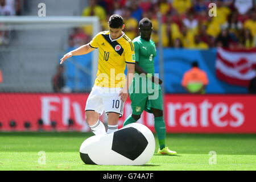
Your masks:
M144 71L151 73L152 76L154 76L154 57L156 56L155 43L152 40L143 40L141 36L135 38L133 43L135 61L142 69L144 69ZM151 80L149 81L144 76L139 78L139 84L136 84L135 82L138 81L138 77L140 76L135 74L133 83L131 84L132 88L129 90L133 114L139 115L143 110L152 113L151 108L163 110L163 97L162 92L160 91L160 86L152 83ZM143 84L143 81L146 81L146 84Z

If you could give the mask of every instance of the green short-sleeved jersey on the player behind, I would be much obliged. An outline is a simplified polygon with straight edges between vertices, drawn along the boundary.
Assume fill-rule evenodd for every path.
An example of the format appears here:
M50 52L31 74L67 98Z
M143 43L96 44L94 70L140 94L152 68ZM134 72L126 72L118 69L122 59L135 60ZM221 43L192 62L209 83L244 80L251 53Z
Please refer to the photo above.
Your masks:
M135 51L135 61L138 62L139 66L144 69L147 73L152 73L154 76L155 66L154 57L156 56L155 43L150 40L146 41L138 36L133 39L134 51Z

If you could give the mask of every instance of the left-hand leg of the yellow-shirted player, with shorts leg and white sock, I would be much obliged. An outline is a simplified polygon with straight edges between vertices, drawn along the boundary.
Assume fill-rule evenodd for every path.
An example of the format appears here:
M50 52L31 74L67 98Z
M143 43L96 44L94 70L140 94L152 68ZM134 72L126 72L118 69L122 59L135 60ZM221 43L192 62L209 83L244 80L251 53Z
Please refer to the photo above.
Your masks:
M106 134L104 124L100 121L100 115L103 113L104 107L100 98L100 93L96 87L93 87L86 101L85 114L86 122L95 135Z

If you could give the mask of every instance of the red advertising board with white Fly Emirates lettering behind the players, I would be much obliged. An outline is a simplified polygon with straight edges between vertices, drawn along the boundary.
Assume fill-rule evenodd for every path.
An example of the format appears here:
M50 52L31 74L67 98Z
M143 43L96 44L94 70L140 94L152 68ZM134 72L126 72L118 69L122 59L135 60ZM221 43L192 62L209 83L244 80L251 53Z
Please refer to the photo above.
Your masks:
M67 131L71 118L74 130L90 131L84 112L87 98L88 94L0 93L0 130L13 130L9 122L14 120L16 131L26 130L26 121L31 123L31 131L37 131L38 119L42 118L44 130L52 130L51 121L55 121L57 131ZM256 96L253 95L168 94L164 105L168 133L256 133ZM130 113L128 100L119 128ZM152 114L143 112L138 122L154 131Z

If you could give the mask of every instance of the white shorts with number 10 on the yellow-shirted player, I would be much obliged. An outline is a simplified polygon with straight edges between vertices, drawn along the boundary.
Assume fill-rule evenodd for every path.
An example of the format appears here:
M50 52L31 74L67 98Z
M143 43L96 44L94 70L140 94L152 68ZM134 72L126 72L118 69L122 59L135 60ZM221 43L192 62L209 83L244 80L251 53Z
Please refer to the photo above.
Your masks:
M105 111L108 113L118 113L119 118L123 115L124 102L121 101L119 92L122 88L103 88L94 85L86 101L85 111L93 110L100 115Z

